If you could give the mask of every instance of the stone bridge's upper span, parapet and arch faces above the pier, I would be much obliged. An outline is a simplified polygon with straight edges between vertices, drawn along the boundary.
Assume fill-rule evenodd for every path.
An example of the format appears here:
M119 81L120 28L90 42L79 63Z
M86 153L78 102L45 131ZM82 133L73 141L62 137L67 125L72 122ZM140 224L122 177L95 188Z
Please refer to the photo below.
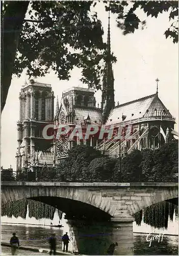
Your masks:
M83 204L86 211L91 206L114 218L131 218L141 209L177 197L177 183L2 182L2 204L24 198L58 198L59 202Z

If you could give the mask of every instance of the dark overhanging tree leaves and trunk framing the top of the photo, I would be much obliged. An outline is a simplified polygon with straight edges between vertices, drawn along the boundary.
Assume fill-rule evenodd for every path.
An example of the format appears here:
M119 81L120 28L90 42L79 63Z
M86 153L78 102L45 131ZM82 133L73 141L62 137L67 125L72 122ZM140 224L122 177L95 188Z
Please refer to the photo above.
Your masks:
M117 25L124 34L134 33L145 21L136 10L158 17L169 11L173 19L165 36L178 40L176 1L104 1L117 13ZM2 110L12 74L24 69L31 77L44 76L50 69L66 80L74 67L82 69L81 80L89 87L101 88L106 58L103 27L91 9L96 1L5 1L2 3ZM176 20L175 20L176 19ZM111 60L116 61L111 55Z

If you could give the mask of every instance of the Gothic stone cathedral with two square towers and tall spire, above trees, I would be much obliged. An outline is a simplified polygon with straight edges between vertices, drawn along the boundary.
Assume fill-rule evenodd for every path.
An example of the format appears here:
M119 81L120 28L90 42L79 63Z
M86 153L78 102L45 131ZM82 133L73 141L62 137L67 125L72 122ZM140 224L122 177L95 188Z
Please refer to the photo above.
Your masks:
M110 18L109 18L110 20ZM35 168L58 166L59 161L67 157L67 152L76 144L88 144L112 157L130 154L133 148L139 150L151 148L156 150L177 135L174 131L175 118L156 93L124 104L114 102L114 76L110 61L110 25L101 105L96 106L93 89L72 87L62 94L59 104L56 101L54 113L54 92L50 84L30 80L20 91L20 113L17 122L18 147L16 153L16 170L34 171ZM108 60L109 59L109 60ZM156 80L158 83L158 79ZM85 134L88 124L104 124L106 129L132 126L133 137L122 141L98 140L91 136L89 140L71 139L61 136L47 140L43 129L48 124L68 124L70 127L81 125ZM50 132L49 132L50 133ZM54 131L50 134L53 135ZM125 137L125 136L124 136Z

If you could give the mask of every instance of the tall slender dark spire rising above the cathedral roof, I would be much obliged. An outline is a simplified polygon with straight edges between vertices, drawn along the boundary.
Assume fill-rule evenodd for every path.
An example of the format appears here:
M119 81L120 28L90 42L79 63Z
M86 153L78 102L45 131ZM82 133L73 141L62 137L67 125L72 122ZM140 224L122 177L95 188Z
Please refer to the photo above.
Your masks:
M101 109L103 113L103 123L106 122L110 111L114 108L114 75L111 62L111 41L110 41L110 12L108 22L108 40L107 40L107 54L105 71L103 76L103 89L101 98Z

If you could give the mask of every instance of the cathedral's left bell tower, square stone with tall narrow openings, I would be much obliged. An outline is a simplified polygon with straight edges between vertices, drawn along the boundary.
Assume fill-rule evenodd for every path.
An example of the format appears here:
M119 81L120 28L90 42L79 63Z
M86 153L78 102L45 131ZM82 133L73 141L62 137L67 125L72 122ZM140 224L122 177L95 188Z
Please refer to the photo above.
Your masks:
M35 152L47 150L52 143L43 138L42 133L44 126L54 120L54 92L50 84L38 83L31 79L29 84L25 82L22 86L19 101L17 172L28 168Z

